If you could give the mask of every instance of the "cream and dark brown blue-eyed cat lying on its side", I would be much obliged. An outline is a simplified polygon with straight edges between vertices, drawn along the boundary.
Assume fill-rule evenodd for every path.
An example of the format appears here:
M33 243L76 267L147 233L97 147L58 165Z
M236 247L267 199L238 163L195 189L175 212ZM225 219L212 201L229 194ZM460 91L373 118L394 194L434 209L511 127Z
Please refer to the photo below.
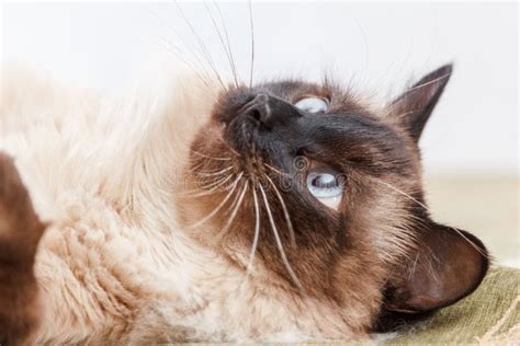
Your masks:
M418 147L451 74L376 107L186 76L111 105L8 71L0 344L363 339L464 298L487 251L431 219Z

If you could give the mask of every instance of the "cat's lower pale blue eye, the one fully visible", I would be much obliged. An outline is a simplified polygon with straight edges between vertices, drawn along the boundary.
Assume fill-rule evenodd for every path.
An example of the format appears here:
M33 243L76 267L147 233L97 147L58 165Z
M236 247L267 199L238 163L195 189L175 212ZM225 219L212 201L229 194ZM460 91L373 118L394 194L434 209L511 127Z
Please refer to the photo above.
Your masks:
M343 194L343 180L331 169L317 169L307 174L307 188L319 201L337 209Z

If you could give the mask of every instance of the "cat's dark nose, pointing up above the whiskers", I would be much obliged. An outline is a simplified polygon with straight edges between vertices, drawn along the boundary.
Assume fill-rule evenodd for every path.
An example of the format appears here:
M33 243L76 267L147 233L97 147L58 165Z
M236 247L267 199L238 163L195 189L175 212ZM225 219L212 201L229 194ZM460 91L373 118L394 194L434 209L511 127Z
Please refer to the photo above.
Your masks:
M256 118L269 129L301 116L298 109L292 104L264 93L258 94L242 109L241 114Z

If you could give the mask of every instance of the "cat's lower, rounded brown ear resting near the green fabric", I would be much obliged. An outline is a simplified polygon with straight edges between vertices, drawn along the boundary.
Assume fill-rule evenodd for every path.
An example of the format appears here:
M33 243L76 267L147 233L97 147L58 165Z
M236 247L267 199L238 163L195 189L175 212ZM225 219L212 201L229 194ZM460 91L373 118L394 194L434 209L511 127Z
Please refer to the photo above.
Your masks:
M388 280L385 309L427 312L452 304L478 287L488 265L476 237L428 221L416 253Z

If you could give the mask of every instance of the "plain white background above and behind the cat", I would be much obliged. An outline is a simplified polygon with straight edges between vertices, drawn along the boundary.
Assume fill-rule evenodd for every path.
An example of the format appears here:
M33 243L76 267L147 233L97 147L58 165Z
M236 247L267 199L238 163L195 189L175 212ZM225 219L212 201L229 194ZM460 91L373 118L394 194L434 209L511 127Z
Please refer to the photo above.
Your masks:
M213 2L207 5L219 24ZM227 71L204 4L180 3L218 70ZM239 74L250 67L249 8L219 3ZM137 76L177 66L196 38L176 4L4 3L2 58L58 79L121 93ZM337 79L383 97L411 77L453 61L455 71L421 147L428 172L516 174L518 168L518 5L516 3L258 3L255 80ZM194 61L191 58L190 61Z

